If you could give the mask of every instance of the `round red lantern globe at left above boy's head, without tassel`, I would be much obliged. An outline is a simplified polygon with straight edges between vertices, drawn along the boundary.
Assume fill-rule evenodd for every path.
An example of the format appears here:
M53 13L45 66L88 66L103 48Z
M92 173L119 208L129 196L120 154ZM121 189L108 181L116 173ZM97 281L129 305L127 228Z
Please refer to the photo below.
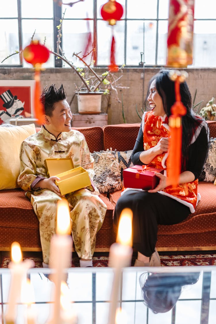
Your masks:
M31 41L30 45L23 50L23 57L26 62L31 63L33 67L41 67L41 64L47 62L50 52L45 45L41 45L39 41Z

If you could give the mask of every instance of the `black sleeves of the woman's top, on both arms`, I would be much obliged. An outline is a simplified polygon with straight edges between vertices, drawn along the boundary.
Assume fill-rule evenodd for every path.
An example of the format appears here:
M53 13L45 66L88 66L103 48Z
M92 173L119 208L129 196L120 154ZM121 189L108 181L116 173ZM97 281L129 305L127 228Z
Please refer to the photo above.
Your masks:
M193 144L189 146L189 156L187 163L187 171L190 171L194 174L195 179L198 179L203 165L205 163L209 149L209 136L207 134L206 128L203 126L200 130L200 133ZM140 161L140 154L143 151L143 132L142 132L142 123L140 130L136 139L136 143L131 154L131 159L133 165L143 165Z

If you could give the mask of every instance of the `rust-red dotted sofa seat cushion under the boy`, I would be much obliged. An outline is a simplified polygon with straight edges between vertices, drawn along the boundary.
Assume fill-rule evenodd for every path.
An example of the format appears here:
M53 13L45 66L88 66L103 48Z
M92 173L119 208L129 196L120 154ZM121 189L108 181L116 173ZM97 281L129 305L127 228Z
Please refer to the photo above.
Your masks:
M96 250L108 251L115 242L112 229L113 205L106 195L99 196L107 205L103 225L97 233ZM41 250L39 221L33 207L22 189L2 190L0 194L0 248L10 250L14 241L19 242L23 250Z

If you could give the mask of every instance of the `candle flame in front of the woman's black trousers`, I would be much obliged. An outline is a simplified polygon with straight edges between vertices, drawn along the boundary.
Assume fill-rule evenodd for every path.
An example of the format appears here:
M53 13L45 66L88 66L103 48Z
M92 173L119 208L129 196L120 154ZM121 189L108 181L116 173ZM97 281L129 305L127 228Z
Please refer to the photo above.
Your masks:
M130 208L124 208L119 219L119 228L116 242L122 245L132 246L132 219L133 214Z

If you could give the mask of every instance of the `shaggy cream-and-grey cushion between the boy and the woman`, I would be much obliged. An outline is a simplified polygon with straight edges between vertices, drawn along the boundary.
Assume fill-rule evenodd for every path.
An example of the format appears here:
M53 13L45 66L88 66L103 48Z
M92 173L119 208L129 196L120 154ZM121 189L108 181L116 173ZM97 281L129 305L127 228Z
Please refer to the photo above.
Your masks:
M94 184L101 193L121 190L123 169L132 165L130 151L99 151L91 153L94 158Z

